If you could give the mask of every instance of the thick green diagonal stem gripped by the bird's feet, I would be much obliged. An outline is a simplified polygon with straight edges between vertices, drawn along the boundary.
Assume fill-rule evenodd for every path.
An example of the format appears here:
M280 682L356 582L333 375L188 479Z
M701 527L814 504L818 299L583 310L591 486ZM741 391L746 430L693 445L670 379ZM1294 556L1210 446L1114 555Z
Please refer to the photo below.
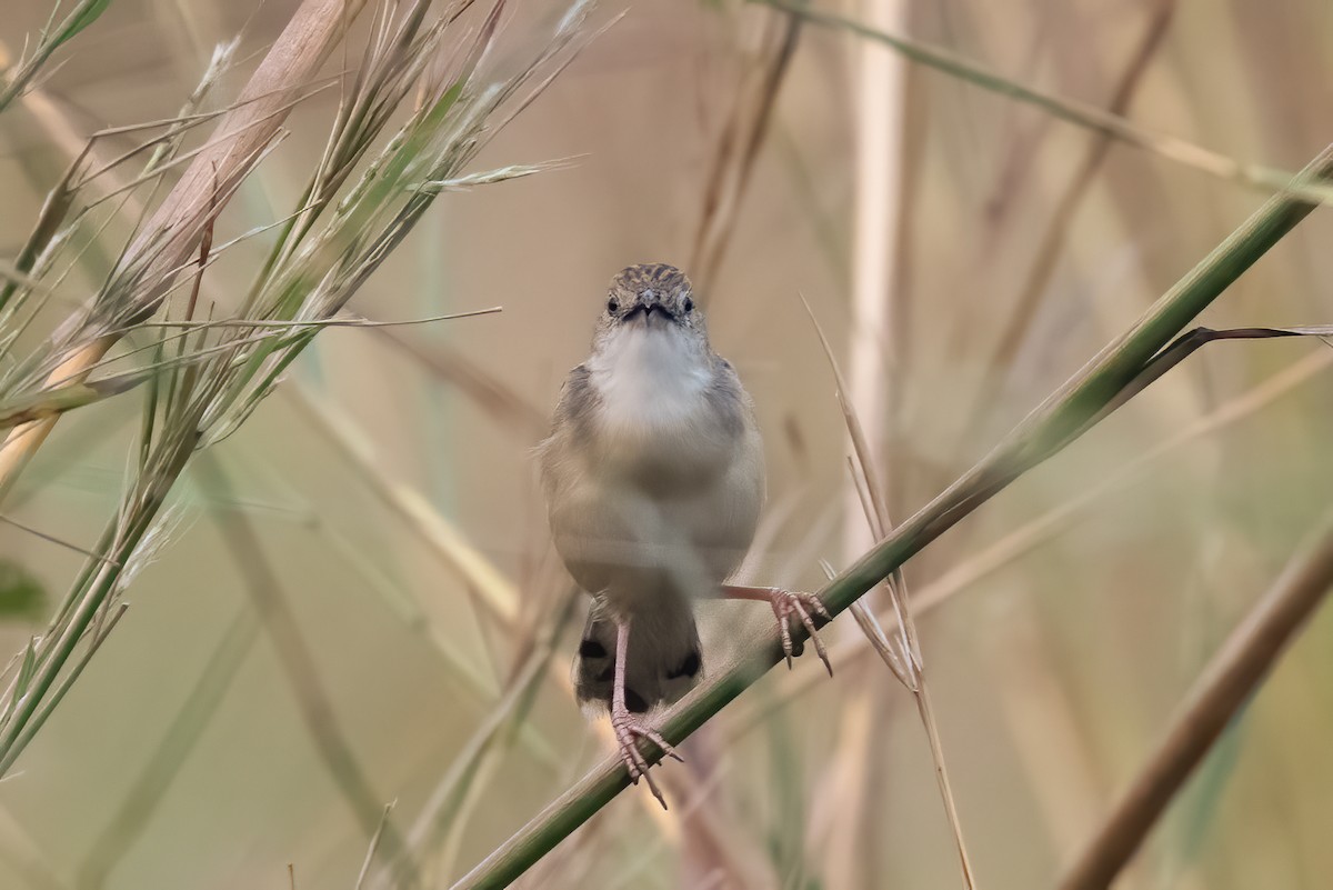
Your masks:
M1333 145L1297 175L1293 187L1308 193L1304 187L1330 175ZM1312 209L1309 201L1293 192L1269 199L976 466L830 581L820 592L829 612L837 614L850 606L990 496L1090 429L1089 421L1100 420L1102 408L1153 356ZM663 737L678 745L781 660L776 633L756 640L740 661L696 689L668 714L661 726ZM628 786L629 777L620 758L607 758L459 881L453 890L508 886Z

